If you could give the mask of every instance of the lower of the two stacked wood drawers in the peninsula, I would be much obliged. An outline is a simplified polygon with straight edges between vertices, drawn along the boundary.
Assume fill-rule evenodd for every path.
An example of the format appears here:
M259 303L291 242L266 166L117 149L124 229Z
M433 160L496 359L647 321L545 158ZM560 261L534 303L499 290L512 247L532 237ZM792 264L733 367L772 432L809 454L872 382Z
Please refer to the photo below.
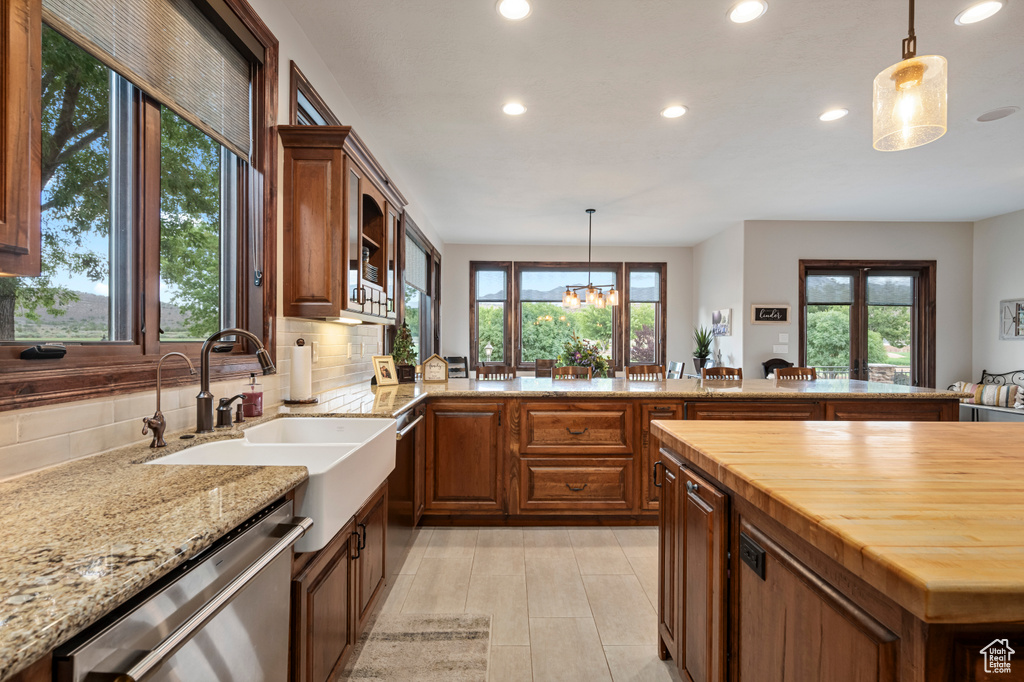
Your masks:
M633 462L521 460L522 509L633 508Z

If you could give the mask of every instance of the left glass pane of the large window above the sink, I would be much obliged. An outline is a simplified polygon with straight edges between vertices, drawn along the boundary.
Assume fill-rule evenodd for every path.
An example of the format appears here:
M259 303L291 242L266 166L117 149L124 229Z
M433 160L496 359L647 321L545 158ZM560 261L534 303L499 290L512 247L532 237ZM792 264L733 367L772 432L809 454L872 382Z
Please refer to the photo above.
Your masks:
M42 58L42 274L0 278L0 341L128 341L131 85L45 25Z

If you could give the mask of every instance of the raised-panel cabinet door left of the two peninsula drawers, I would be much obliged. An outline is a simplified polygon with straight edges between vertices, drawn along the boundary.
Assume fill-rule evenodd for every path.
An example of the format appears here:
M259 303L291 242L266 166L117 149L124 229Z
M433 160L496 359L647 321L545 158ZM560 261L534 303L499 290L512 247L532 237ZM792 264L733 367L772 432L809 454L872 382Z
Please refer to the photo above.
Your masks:
M427 408L427 511L503 511L502 402Z

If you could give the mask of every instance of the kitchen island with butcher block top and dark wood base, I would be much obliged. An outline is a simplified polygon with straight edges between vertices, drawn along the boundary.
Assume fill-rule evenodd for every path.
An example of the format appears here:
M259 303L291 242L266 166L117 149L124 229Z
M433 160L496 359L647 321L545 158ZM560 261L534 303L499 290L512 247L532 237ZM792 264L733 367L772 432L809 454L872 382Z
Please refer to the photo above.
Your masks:
M651 431L659 644L684 680L1024 680L1021 425Z

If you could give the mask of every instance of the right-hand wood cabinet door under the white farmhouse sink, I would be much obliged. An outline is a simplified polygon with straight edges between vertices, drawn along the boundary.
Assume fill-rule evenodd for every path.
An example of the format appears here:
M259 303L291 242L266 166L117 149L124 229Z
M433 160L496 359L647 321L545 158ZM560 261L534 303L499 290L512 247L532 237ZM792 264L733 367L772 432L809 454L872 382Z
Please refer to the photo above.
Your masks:
M367 500L355 514L358 547L355 561L355 622L362 631L386 582L387 481Z

